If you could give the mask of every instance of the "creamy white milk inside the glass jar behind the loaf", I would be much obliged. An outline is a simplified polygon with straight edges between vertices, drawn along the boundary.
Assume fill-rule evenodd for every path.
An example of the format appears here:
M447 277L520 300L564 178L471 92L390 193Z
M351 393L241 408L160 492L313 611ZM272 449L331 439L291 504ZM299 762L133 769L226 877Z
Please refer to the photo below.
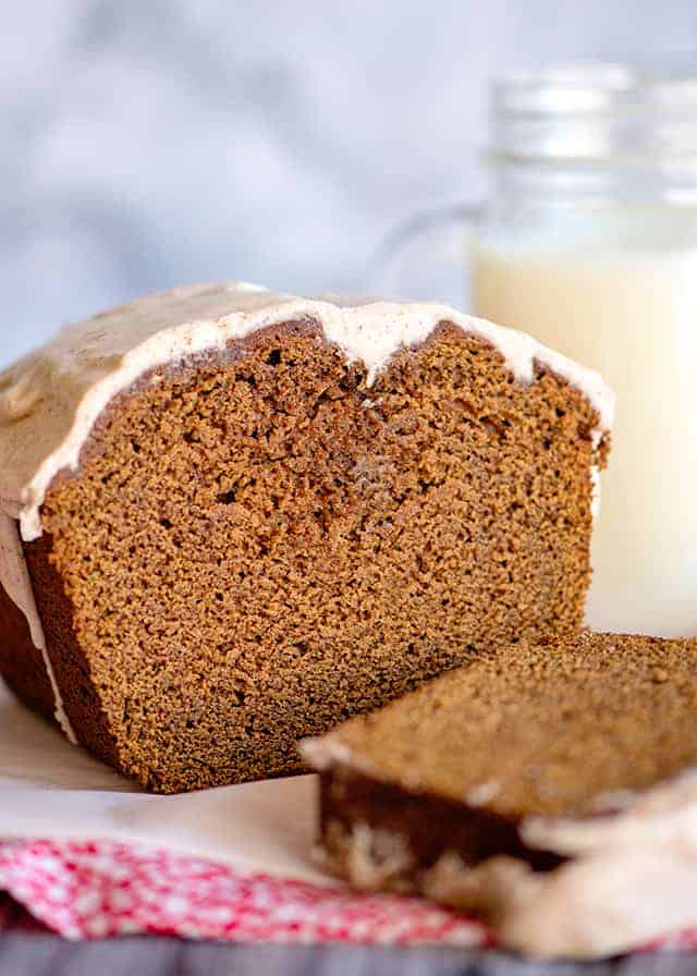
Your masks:
M588 622L697 634L697 247L592 236L480 242L475 312L600 370L617 394Z

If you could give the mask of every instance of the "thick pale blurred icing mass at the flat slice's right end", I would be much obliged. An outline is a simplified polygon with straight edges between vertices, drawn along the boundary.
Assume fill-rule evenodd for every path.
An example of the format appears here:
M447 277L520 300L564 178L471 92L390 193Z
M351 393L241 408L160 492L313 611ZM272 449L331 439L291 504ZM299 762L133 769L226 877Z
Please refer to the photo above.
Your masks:
M546 874L518 870L501 892L506 944L543 955L607 955L697 925L695 772L614 815L528 820L521 833L530 846L571 861Z

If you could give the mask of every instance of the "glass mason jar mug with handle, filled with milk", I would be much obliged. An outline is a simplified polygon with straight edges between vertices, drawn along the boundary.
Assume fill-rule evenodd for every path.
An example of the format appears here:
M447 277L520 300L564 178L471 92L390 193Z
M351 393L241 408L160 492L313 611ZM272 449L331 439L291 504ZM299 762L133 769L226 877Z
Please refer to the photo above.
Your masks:
M489 199L406 224L382 285L426 297L415 268L442 270L455 228L476 315L604 376L587 622L697 634L697 70L517 74L491 109Z

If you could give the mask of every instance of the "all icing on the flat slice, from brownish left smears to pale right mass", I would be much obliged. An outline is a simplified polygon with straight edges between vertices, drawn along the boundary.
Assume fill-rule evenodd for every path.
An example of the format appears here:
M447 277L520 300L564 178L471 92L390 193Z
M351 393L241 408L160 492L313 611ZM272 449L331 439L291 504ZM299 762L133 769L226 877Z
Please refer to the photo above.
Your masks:
M530 846L570 858L549 871L503 855L473 867L447 851L419 875L401 834L388 847L387 831L364 822L343 828L340 851L326 852L328 864L360 888L411 884L441 904L476 911L502 945L519 952L613 955L697 925L697 773L632 803L631 795L623 791L628 806L610 816L524 822Z

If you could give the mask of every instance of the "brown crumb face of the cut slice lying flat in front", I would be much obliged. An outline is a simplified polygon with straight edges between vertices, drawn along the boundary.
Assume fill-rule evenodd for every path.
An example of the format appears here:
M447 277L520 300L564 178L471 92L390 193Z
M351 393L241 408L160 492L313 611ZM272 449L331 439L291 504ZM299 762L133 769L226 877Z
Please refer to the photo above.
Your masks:
M307 755L516 821L592 818L697 767L696 701L697 642L583 633L476 658Z

